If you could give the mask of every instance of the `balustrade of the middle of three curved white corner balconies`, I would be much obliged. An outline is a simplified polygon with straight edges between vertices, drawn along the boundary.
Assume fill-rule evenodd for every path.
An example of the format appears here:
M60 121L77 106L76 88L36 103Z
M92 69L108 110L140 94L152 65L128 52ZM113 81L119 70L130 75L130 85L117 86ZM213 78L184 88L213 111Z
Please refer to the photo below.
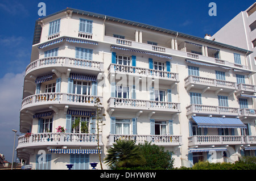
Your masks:
M94 100L101 96L79 95L60 92L43 93L27 96L22 100L22 109L30 106L39 106L42 104L77 104L82 106L94 106Z

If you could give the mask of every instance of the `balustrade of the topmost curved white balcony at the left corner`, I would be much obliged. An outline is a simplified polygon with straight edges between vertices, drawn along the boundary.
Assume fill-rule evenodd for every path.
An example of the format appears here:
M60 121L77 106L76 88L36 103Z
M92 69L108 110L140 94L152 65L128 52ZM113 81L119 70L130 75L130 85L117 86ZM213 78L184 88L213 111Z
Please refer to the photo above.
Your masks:
M31 62L26 68L26 75L35 69L47 68L49 66L67 66L77 68L88 68L93 70L103 69L103 62L93 60L83 60L70 57L47 57Z

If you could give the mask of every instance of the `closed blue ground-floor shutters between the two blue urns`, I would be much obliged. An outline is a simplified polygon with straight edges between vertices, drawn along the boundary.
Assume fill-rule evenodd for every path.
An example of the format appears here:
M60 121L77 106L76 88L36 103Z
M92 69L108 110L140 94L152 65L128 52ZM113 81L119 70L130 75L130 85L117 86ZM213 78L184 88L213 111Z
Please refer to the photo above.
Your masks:
M70 154L71 170L89 170L89 154Z

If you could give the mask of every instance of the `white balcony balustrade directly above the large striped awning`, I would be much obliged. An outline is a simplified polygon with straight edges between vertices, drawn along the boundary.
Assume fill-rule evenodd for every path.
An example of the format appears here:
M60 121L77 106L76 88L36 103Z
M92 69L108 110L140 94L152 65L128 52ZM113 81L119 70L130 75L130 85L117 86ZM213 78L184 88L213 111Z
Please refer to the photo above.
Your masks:
M207 114L207 115L230 115L240 116L240 109L233 107L221 107L221 106L207 106L201 104L191 104L186 107L187 115L193 113Z

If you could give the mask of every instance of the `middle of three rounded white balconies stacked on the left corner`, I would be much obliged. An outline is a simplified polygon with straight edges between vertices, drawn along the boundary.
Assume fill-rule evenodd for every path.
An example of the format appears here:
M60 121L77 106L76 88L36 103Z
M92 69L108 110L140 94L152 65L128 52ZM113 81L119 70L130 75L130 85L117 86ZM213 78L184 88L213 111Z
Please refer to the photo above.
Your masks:
M95 108L94 100L100 98L101 96L94 95L79 95L79 94L69 94L69 93L43 93L27 96L22 100L22 108L20 112L25 109L30 111L42 110L42 108L49 108L49 106L56 106L57 108L64 108L65 105L82 107L82 108Z

